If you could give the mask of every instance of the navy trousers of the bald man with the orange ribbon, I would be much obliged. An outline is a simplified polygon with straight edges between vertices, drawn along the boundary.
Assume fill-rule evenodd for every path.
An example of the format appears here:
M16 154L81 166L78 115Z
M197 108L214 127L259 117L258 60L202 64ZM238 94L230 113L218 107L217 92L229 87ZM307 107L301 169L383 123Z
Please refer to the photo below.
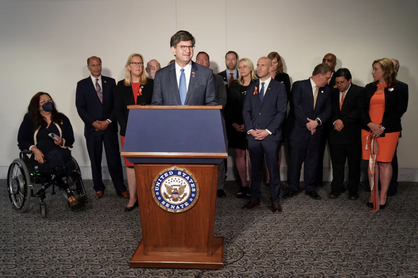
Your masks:
M264 154L270 173L270 200L280 199L280 141L248 140L248 151L251 160L251 199L260 200L261 180L263 178Z

